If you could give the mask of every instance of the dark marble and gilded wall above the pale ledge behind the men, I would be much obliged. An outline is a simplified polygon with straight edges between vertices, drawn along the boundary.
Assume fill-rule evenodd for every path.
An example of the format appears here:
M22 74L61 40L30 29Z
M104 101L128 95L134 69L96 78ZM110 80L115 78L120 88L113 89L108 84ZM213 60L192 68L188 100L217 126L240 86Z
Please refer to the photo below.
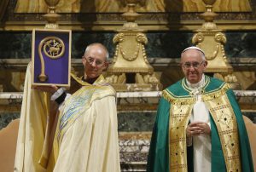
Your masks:
M31 58L32 28L44 27L42 13L47 9L44 0L3 0L0 9L0 39L4 40L0 42L0 85L8 83L4 91L17 91L24 77L17 73L25 72ZM73 59L79 59L84 47L93 42L106 44L113 57L113 36L125 22L120 16L125 0L61 0L57 10L61 12L60 27L73 30ZM137 11L143 15L137 23L148 37L146 52L164 87L183 77L179 55L192 44L193 31L201 27L204 10L201 0L143 0L138 4ZM213 10L221 12L215 21L227 36L224 49L237 77L244 81L242 89L256 89L256 0L218 0ZM79 61L74 65L79 66ZM14 74L15 66L20 68ZM18 78L21 81L15 82Z

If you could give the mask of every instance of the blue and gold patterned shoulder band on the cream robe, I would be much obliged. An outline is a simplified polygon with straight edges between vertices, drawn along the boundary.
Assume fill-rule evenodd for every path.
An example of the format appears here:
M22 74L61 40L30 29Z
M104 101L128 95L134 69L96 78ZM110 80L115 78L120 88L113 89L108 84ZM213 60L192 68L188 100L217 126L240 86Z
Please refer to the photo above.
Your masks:
M113 87L109 83L106 83L102 75L93 84L84 82L82 77L76 77L73 74L72 77L83 87L64 102L60 113L59 127L57 128L59 142L69 125L72 125L74 120L79 118L80 115L83 115L90 108L94 100L116 95Z

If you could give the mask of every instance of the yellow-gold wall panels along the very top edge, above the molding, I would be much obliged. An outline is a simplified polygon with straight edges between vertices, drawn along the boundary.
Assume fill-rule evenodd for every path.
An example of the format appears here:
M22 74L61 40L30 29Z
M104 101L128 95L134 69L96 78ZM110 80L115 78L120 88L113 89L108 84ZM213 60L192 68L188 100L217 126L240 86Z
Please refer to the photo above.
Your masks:
M124 13L125 0L61 0L58 13ZM216 12L249 12L249 0L217 0L213 10ZM142 0L138 12L203 12L205 5L201 0ZM15 13L46 13L44 0L18 0Z

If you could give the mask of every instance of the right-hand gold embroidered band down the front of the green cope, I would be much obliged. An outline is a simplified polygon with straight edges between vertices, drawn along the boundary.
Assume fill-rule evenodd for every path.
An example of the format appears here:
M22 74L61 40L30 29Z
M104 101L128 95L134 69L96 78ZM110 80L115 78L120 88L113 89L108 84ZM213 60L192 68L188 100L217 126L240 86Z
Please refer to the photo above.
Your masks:
M202 99L212 115L218 129L227 171L241 171L239 138L235 113L225 90L228 85L216 93L202 95Z

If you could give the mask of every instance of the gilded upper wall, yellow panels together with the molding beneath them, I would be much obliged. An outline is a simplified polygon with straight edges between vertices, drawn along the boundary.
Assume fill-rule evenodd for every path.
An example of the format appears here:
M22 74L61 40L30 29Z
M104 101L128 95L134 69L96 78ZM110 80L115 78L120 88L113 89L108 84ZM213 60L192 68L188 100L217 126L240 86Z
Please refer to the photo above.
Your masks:
M1 30L31 31L44 27L42 13L47 12L44 0L3 0L0 11ZM9 2L8 7L4 4ZM201 26L202 0L143 0L137 11L142 12L137 23L149 31L188 30ZM218 27L224 30L254 30L256 26L256 0L217 0L213 10L219 13ZM73 31L116 31L123 23L125 0L61 0L60 26Z

